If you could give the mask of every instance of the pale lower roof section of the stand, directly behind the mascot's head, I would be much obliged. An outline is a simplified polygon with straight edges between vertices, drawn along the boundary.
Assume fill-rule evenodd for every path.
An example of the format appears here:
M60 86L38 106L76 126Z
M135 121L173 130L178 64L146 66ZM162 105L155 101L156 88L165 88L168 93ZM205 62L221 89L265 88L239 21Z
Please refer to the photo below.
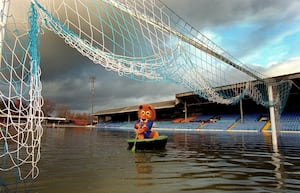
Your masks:
M163 101L157 103L150 103L154 106L155 109L167 109L175 107L175 100L171 101ZM98 115L110 115L110 114L117 114L117 113L129 113L129 112L136 112L138 110L139 105L128 106L128 107L121 107L115 109L106 109L102 111L97 111L93 113L94 116Z

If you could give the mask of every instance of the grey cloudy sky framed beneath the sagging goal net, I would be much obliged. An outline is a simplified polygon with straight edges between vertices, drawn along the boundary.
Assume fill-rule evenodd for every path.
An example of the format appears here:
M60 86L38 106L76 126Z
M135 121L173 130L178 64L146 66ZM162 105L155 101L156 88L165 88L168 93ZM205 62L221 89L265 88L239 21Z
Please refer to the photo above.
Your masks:
M70 48L64 40L45 31L40 45L43 97L74 111L89 111L94 76L94 109L115 108L171 100L184 91L174 84L145 83L105 70Z

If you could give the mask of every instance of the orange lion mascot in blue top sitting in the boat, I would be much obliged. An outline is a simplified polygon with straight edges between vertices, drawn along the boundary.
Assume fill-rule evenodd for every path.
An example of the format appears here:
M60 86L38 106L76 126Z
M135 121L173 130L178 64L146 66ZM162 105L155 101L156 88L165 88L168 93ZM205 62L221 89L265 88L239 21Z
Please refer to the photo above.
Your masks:
M138 109L138 118L134 124L135 133L138 139L157 138L158 132L151 131L153 121L156 118L156 112L152 105L140 105Z

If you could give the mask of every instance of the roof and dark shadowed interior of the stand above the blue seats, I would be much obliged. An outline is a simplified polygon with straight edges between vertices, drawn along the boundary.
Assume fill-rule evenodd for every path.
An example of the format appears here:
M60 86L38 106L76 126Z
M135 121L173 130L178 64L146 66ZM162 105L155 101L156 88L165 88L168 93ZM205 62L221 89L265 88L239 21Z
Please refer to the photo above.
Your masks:
M279 77L273 77L278 80L292 80L293 86L285 106L284 111L300 111L300 73L289 74ZM218 89L226 90L227 86ZM157 114L157 120L173 120L177 118L187 118L199 114L230 114L240 113L240 104L224 105L210 102L201 98L194 92L178 93L175 99L171 101L163 101L151 103ZM243 113L260 112L268 115L269 109L256 104L252 99L244 98L242 100ZM93 113L98 122L124 122L134 121L137 119L138 104L134 106L100 110Z

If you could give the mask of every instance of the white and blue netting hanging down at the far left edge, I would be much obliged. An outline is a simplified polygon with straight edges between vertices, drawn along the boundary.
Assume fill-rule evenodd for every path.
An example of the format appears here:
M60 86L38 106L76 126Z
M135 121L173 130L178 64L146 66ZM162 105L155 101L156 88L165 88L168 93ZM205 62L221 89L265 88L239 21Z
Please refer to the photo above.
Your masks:
M35 42L38 32L27 24L17 24L11 15L5 16L0 63L0 170L16 169L21 179L34 178L38 175L43 117ZM35 22L37 14L30 17Z

